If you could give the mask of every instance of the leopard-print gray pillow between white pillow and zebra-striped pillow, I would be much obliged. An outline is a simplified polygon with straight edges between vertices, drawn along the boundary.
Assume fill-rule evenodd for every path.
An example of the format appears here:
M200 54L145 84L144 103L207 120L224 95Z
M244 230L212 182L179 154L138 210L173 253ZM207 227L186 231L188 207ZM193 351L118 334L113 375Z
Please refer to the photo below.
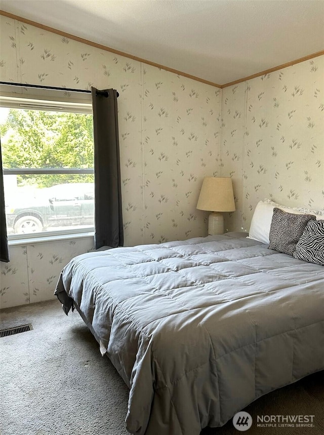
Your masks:
M314 215L287 213L275 207L270 226L269 249L293 255L306 225L315 219Z

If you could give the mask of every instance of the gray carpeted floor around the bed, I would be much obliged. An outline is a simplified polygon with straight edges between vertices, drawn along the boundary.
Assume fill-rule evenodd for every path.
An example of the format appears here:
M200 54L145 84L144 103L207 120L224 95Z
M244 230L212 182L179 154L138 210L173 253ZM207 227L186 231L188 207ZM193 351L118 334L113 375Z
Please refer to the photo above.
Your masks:
M78 313L67 317L57 300L1 311L1 329L29 323L32 331L0 338L1 435L127 435L129 390ZM320 372L247 407L247 433L322 435L323 409ZM261 428L258 415L314 415L314 427ZM229 421L201 435L237 433Z

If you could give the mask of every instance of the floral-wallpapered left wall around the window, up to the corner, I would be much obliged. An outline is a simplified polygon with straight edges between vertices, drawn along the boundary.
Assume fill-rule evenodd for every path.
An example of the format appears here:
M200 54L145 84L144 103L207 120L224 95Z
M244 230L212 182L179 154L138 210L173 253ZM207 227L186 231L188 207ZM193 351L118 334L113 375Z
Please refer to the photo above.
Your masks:
M118 90L125 245L207 234L207 213L195 206L204 176L218 174L221 91L0 20L2 81ZM1 306L51 298L64 264L91 249L90 239L11 247L10 263L1 263Z

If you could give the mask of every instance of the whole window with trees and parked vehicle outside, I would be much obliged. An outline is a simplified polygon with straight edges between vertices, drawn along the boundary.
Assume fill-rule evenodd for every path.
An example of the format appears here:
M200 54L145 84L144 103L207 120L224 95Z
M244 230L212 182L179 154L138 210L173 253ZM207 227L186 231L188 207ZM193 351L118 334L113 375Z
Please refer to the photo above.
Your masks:
M90 98L80 102L70 95L45 99L1 92L9 239L93 230Z

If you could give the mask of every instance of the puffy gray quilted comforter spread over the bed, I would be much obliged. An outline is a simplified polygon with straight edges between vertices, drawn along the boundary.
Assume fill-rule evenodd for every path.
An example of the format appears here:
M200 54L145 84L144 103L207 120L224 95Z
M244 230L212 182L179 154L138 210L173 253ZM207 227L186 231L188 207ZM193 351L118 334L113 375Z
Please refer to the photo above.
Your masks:
M129 386L138 435L198 435L324 369L324 267L251 239L79 255L55 294Z

